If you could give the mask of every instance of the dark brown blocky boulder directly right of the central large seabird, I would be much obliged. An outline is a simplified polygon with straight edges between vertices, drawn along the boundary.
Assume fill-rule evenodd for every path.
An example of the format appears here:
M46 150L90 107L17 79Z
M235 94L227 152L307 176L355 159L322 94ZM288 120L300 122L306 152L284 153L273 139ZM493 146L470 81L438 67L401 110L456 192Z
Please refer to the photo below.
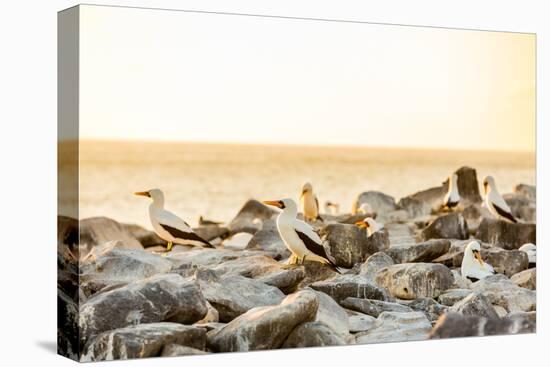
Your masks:
M367 237L364 229L352 224L329 224L321 230L320 235L328 243L329 253L336 266L345 268L364 262L371 254L390 245L384 230Z

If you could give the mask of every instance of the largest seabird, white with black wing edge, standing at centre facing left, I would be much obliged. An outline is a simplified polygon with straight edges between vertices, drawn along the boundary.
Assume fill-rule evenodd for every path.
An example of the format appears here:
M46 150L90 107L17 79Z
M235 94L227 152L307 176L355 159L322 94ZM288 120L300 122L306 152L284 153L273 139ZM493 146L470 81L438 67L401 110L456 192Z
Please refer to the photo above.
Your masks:
M334 262L328 257L319 235L304 221L296 219L298 207L292 199L264 201L282 210L277 217L277 229L286 247L296 257L297 262L305 260L317 261L329 265L340 272Z

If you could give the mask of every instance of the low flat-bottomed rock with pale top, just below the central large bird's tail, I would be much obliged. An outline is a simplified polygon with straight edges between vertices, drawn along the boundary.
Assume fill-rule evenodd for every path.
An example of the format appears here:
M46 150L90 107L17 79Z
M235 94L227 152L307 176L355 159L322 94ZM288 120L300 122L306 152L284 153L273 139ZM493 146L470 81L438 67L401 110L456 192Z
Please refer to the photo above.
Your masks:
M348 297L368 298L380 301L389 299L388 293L370 283L364 276L361 275L340 275L328 280L322 280L310 285L316 291L331 296L336 302L341 302Z

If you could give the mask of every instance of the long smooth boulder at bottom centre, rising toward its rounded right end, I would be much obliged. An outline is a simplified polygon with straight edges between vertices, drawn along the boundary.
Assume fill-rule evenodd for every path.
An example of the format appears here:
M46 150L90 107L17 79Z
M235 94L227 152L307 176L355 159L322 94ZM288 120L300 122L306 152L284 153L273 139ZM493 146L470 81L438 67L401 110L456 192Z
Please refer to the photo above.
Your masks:
M296 292L277 306L253 308L220 329L209 332L207 345L215 352L279 348L296 326L315 319L318 306L314 292Z

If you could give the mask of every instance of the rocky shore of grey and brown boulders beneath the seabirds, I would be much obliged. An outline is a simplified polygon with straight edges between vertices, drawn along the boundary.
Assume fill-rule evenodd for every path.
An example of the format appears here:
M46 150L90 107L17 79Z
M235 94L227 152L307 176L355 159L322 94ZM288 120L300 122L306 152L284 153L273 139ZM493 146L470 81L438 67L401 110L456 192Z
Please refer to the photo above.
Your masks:
M226 225L195 228L215 249L174 246L109 218L58 217L58 349L80 361L531 333L536 329L536 193L505 200L520 219L481 205L476 171L456 171L461 201L441 211L447 183L396 200L360 193L365 214L314 223L343 274L290 256L278 214L256 200ZM145 215L145 214L144 214ZM80 232L79 232L80 224ZM464 248L482 244L497 274L460 274Z

